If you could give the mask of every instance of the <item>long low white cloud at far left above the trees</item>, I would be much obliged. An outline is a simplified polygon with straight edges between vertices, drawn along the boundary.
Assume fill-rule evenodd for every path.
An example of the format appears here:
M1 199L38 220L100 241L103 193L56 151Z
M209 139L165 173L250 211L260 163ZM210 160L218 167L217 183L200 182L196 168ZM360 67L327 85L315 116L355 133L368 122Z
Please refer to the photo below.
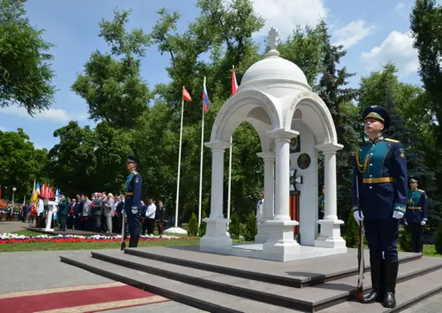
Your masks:
M63 110L62 108L49 108L46 111L41 111L34 116L30 116L25 108L18 106L9 106L6 108L1 108L0 113L9 115L9 116L19 116L21 118L34 118L36 120L48 120L54 123L68 123L70 120L83 120L86 119L87 116L84 114L76 114L70 115Z

